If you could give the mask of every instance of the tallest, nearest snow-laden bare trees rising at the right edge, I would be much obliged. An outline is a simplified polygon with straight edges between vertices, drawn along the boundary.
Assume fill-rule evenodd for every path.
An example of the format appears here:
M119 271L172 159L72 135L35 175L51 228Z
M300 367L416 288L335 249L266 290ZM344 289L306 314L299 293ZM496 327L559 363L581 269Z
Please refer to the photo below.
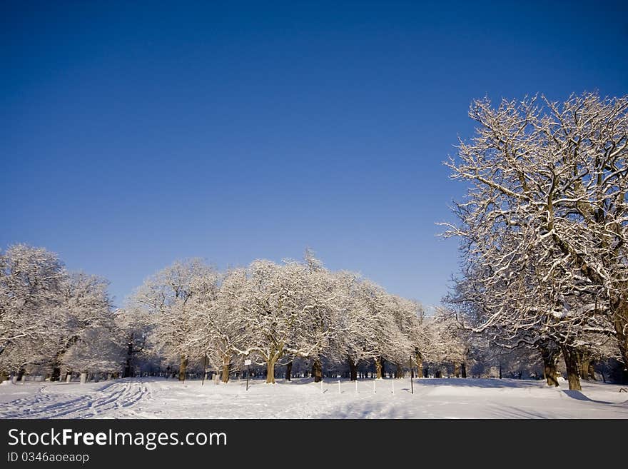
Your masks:
M463 267L446 303L467 330L535 348L570 389L594 359L628 364L628 96L475 101L477 133L447 164L465 181Z

